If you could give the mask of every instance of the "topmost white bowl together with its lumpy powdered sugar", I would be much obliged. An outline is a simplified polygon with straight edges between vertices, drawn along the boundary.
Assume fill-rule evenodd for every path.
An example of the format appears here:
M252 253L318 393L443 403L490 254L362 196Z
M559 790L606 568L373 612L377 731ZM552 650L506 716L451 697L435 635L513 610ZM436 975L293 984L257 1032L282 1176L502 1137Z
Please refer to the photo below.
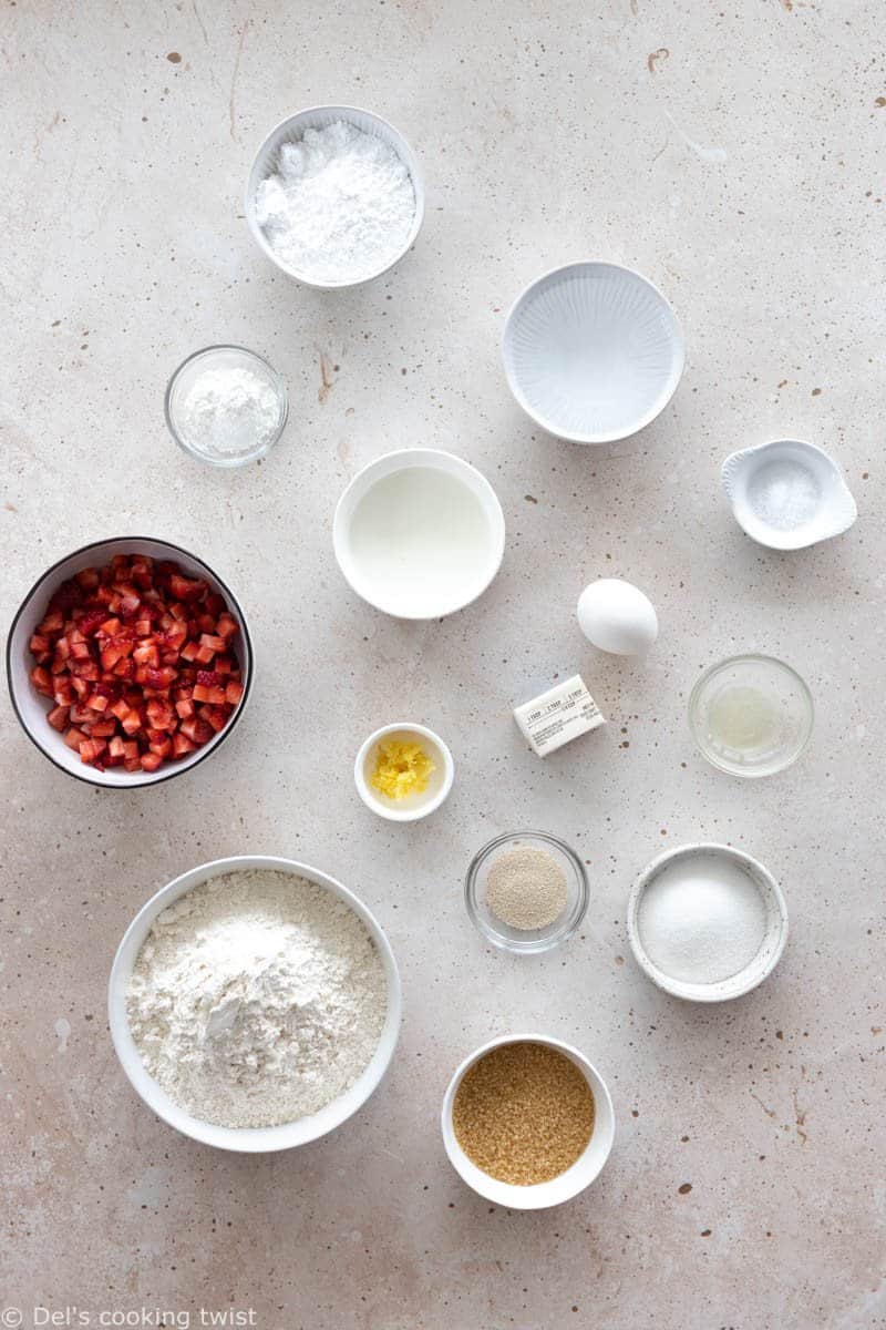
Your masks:
M259 148L246 186L246 219L259 249L320 290L387 273L414 243L424 211L412 148L360 106L287 116Z

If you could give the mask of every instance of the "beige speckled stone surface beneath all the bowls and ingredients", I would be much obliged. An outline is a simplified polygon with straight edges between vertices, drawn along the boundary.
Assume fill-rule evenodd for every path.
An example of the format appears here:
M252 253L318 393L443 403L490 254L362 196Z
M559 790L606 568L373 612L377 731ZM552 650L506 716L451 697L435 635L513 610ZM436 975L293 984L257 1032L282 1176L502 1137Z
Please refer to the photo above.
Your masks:
M66 779L3 702L0 1303L25 1326L36 1303L93 1325L251 1307L262 1330L886 1325L882 35L861 0L3 5L4 622L56 557L155 533L230 579L259 654L230 743L141 794ZM324 101L388 116L428 185L414 253L351 294L284 279L242 218L266 130ZM535 431L499 363L511 299L578 257L648 274L688 346L664 415L602 450ZM170 371L217 340L267 355L292 399L276 451L232 475L162 420ZM719 491L728 452L786 434L828 447L859 505L796 556L745 539ZM480 466L509 524L489 593L425 626L348 593L329 537L348 477L408 444ZM646 664L580 637L600 575L658 606ZM699 670L745 648L818 704L800 765L747 785L685 724ZM510 708L575 669L611 725L542 762ZM401 717L457 762L416 826L373 819L351 779ZM582 936L534 960L484 947L461 896L478 846L526 825L592 884ZM663 846L717 838L776 872L792 936L761 990L701 1011L636 970L624 907ZM375 1099L264 1158L155 1121L105 1020L139 904L247 850L363 895L405 992ZM456 1063L517 1027L579 1044L618 1115L594 1188L533 1216L468 1192L437 1127Z

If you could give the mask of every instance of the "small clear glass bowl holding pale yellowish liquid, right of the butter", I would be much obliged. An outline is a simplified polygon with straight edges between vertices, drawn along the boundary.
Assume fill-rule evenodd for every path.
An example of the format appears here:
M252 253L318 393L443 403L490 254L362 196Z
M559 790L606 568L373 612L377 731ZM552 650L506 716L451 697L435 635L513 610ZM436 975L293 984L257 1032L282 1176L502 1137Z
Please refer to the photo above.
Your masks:
M814 708L800 674L772 656L711 665L689 697L689 729L701 755L729 775L774 775L812 735Z

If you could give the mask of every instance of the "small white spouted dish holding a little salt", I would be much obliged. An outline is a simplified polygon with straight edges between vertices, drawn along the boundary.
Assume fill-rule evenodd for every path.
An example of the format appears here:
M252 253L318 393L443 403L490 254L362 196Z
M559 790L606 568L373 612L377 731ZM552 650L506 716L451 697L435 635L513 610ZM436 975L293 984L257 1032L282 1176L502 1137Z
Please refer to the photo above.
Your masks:
M840 536L858 516L837 463L801 439L733 452L721 479L739 525L770 549L802 549Z

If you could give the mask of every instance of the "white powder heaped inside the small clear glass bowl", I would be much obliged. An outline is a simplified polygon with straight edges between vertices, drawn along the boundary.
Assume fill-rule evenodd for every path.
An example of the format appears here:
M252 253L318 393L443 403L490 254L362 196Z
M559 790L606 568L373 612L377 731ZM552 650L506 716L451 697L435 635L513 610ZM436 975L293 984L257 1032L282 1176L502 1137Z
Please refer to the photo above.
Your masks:
M280 403L267 379L234 364L203 370L175 408L175 428L207 458L256 452L279 424Z

